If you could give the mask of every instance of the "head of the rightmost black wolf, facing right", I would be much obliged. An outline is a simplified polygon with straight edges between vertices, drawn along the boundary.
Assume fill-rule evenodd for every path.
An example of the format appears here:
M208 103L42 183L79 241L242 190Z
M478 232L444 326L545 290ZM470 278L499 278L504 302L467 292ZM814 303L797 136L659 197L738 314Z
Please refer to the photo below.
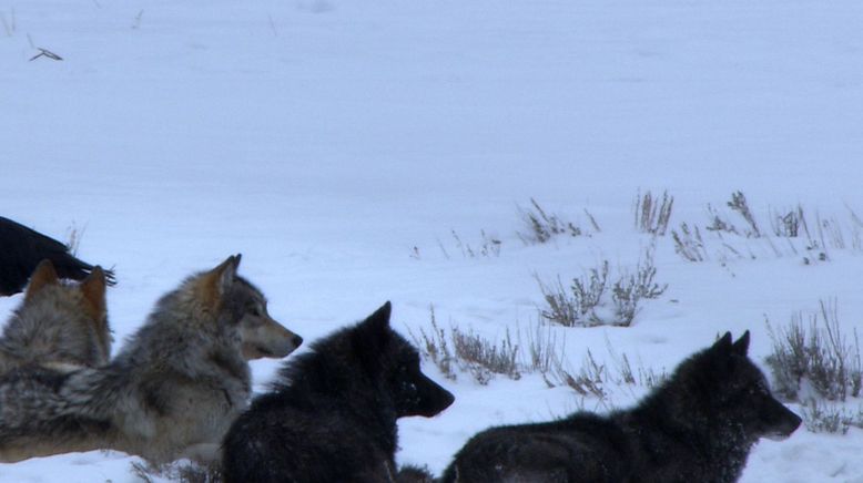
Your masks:
M773 398L748 351L749 331L733 342L725 332L713 346L681 363L669 387L679 378L682 386L678 389L687 394L681 392L677 401L684 400L689 409L700 408L708 423L728 431L729 436L748 442L788 438L801 419Z

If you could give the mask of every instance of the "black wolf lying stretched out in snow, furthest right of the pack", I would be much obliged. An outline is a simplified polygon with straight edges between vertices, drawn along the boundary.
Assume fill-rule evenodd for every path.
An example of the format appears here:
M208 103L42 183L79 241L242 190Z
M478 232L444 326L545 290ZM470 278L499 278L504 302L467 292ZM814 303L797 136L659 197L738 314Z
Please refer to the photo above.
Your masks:
M630 410L483 431L443 481L735 482L759 438L786 438L801 422L770 394L748 348L749 331L733 343L725 333Z

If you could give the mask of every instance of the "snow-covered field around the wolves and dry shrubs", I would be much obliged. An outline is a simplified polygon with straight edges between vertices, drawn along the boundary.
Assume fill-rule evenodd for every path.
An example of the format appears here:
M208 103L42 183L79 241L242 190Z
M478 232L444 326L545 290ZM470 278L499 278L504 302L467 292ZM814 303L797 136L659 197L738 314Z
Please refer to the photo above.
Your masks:
M428 331L434 306L443 328L525 346L537 278L566 284L601 260L615 273L651 244L668 289L632 327L540 325L572 370L589 349L670 371L745 329L766 370L765 319L783 327L820 300L863 330L859 1L0 0L0 215L83 232L79 256L114 267L114 351L161 294L234 253L307 341L392 300L405 335ZM62 61L30 61L40 48ZM700 226L704 261L636 229L639 191L666 189L669 230ZM725 206L737 191L766 239L704 230L708 205L745 228ZM601 230L527 245L531 197ZM798 205L845 247L828 234L821 261L774 237L771 213ZM481 232L499 255L463 253ZM277 362L252 367L261 388ZM647 391L600 400L536 372L481 386L424 369L456 403L404 420L398 461L434 472L488 425ZM861 430L801 428L759 443L742 481L863 482L861 450ZM0 465L0 481L130 482L133 461L37 459Z

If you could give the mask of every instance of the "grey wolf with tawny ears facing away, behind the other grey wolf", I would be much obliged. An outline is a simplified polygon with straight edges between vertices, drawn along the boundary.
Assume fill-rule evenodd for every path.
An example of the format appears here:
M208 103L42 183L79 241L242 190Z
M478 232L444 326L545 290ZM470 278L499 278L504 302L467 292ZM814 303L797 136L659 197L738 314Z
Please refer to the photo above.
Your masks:
M0 338L0 373L26 364L95 367L111 357L105 277L94 267L80 284L59 280L53 264L39 264L21 305Z

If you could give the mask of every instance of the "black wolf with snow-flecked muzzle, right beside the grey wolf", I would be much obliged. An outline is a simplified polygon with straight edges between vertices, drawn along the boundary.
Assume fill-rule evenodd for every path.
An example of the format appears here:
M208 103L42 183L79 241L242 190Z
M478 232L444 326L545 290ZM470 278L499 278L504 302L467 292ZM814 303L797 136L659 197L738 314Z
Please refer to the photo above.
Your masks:
M396 420L433 417L454 398L420 372L389 314L387 302L285 363L225 436L225 482L394 481Z

